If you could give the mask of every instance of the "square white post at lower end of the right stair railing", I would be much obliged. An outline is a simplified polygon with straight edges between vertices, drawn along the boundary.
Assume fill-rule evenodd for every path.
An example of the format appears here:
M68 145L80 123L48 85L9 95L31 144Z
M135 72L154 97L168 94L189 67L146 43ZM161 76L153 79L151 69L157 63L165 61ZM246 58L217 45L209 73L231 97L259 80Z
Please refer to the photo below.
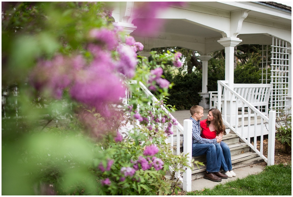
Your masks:
M276 111L269 111L268 165L275 163Z

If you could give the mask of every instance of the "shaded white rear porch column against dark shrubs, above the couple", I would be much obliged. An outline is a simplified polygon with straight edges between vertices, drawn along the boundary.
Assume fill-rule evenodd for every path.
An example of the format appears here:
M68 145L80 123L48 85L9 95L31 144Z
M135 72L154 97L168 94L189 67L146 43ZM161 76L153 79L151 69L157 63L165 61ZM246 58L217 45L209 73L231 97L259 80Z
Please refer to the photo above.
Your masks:
M206 98L209 97L208 94L208 61L212 58L210 55L201 55L197 57L202 62L202 87L201 87L201 94L202 99L199 102L199 105L202 106L204 109L208 109L210 106L207 104Z

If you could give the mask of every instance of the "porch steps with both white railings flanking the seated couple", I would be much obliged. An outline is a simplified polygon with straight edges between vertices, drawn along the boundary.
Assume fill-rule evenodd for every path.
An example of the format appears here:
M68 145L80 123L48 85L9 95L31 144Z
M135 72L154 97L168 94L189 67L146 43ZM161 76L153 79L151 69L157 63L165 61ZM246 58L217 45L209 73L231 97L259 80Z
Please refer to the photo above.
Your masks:
M147 87L145 87L141 82L139 82L139 89L141 89L148 97L152 99L152 106L161 105L158 104L159 102L157 98L155 98L154 95L152 95ZM225 81L218 81L218 89L220 90L220 93L218 92L217 96L217 108L221 111L223 122L226 125L228 134L223 137L223 141L225 141L230 147L232 167L235 169L262 161L267 162L268 165L273 165L276 112L270 111L269 118L266 117L255 106L249 103L236 91L232 90L225 83ZM258 99L259 97L256 96L255 98ZM174 118L163 105L161 105L160 107L161 110L164 110L170 117ZM239 109L241 111L241 114L238 114ZM245 111L247 111L247 113L245 113ZM155 110L154 113L156 113ZM247 122L244 123L245 118L247 119ZM259 122L259 124L255 124L257 122ZM168 143L170 143L174 154L179 155L183 152L184 155L190 156L192 152L192 121L189 119L184 120L184 127L180 125L178 121L176 121L176 123L176 131L173 131L174 134L169 136ZM164 125L160 125L160 127L164 129ZM269 134L269 152L267 154L268 158L263 155L263 135L266 134ZM184 139L186 139L184 140L184 146L183 136ZM257 136L260 136L259 150L256 146ZM251 137L254 137L253 145L250 142ZM189 161L191 161L191 159L206 163L205 155L193 158L191 158L190 156ZM172 168L172 166L169 166L169 169L172 172L174 168ZM194 165L194 168L192 170L188 168L186 169L187 170L185 173L176 172L175 177L180 180L181 184L183 185L184 191L191 191L191 180L203 177L206 168L205 166L200 166L198 169L197 165ZM167 174L166 178L169 177Z

